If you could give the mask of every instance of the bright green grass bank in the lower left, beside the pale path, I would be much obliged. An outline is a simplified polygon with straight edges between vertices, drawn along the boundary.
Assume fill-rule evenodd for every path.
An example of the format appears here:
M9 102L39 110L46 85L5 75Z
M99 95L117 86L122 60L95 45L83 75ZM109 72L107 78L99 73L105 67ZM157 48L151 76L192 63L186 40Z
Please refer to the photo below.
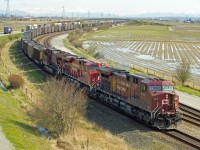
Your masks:
M47 138L42 137L20 107L28 103L20 90L0 90L0 125L8 140L17 150L51 149Z

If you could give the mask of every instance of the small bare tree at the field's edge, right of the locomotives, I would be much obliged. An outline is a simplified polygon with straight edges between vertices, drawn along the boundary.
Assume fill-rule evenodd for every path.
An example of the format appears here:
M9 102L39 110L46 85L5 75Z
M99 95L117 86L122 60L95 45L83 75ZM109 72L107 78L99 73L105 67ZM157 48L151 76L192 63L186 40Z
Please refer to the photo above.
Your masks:
M190 78L190 63L183 59L182 63L176 68L176 79L184 84Z

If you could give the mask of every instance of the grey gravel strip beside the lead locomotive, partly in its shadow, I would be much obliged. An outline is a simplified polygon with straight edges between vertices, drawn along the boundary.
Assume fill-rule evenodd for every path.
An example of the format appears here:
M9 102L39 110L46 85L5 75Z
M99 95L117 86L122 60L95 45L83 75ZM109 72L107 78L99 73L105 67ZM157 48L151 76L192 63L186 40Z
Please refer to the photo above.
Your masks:
M182 149L188 147L149 127L130 119L111 108L89 100L87 119L113 135L123 138L134 149Z

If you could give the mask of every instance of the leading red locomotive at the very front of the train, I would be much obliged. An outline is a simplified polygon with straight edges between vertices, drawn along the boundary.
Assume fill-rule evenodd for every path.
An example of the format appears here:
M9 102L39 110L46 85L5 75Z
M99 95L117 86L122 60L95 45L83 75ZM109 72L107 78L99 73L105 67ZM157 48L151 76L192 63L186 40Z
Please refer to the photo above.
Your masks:
M174 129L180 119L179 97L170 81L99 68L98 98L160 129Z

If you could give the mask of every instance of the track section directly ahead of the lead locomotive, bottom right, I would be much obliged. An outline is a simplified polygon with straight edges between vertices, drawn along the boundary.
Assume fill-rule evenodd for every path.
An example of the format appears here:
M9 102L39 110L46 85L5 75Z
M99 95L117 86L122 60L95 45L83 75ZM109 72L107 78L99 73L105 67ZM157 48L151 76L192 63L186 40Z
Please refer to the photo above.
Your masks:
M197 139L179 130L162 131L162 132L170 137L177 139L178 141L181 141L189 146L192 146L193 148L200 149L200 139Z

